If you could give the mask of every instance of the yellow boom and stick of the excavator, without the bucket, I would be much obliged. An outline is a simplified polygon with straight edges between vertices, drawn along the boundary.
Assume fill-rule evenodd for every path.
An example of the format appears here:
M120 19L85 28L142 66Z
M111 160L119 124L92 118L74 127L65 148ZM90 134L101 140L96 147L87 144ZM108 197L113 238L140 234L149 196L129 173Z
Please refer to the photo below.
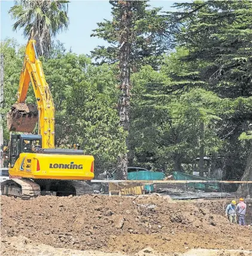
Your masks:
M18 103L25 103L31 81L38 103L38 132L42 136L42 148L54 148L54 105L49 86L45 80L41 61L35 49L35 40L29 40L23 69L20 75Z

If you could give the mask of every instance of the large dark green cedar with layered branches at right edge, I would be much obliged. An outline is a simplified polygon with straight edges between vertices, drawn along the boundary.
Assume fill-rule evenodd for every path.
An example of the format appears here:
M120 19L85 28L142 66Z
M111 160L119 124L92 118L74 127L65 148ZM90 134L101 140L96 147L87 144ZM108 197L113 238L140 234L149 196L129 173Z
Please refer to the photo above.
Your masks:
M177 43L189 50L184 62L198 62L202 87L226 99L217 134L224 141L226 179L239 179L248 156L248 142L238 138L251 118L251 1L195 1L176 4L172 14L180 33ZM190 15L189 15L190 14ZM169 14L171 15L171 14ZM184 84L186 85L186 84ZM232 100L229 100L232 99Z

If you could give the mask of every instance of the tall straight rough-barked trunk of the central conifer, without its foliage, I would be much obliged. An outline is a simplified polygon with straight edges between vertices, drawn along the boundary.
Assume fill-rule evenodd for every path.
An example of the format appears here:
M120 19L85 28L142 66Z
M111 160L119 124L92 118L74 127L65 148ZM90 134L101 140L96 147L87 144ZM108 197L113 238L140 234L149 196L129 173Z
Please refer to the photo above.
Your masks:
M120 98L119 98L119 116L120 126L129 134L129 102L130 102L130 53L131 53L131 26L132 26L132 1L120 1L120 38L121 44L119 50L120 62ZM128 138L126 138L128 148ZM127 179L127 152L119 156L117 164L117 177Z

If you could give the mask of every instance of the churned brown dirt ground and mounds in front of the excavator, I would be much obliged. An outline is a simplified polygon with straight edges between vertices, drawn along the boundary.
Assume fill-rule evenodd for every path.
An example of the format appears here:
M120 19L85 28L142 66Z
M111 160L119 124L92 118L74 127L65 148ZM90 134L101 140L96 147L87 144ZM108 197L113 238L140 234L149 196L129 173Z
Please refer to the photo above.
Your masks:
M1 255L252 255L252 227L217 214L226 201L141 195L1 196Z

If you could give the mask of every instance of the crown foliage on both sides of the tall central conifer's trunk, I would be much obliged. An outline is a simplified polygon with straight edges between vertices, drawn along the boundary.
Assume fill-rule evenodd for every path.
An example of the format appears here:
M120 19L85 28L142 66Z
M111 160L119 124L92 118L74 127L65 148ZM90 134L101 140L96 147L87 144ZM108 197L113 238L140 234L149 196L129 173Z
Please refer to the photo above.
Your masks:
M100 63L116 63L119 61L119 50L123 42L122 36L122 2L110 1L112 5L112 20L98 23L92 37L103 38L110 43L109 47L98 46L92 56ZM162 53L169 49L171 34L165 17L159 14L161 8L150 8L147 1L132 1L130 10L130 65L133 71L141 65L151 65L158 68Z

